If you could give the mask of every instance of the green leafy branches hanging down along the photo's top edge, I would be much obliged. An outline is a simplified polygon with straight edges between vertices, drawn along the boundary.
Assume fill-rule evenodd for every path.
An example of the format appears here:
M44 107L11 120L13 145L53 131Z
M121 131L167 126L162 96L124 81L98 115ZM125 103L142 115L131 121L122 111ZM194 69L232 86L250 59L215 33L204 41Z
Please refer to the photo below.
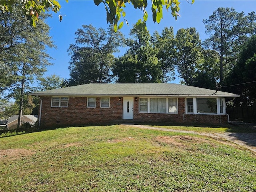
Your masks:
M21 10L26 18L30 21L30 25L36 27L36 22L42 12L45 12L47 8L51 8L53 12L60 11L60 3L58 0L22 0ZM68 0L66 0L68 2ZM168 12L171 10L171 14L175 19L179 16L178 12L180 10L179 0L152 0L152 19L154 22L160 23L163 18L163 8L166 8ZM100 5L103 3L106 9L106 20L107 23L114 25L114 31L117 32L118 29L122 28L124 21L128 25L128 21L125 19L126 12L125 7L127 4L132 4L135 9L139 8L142 10L143 18L139 19L136 23L137 29L143 29L144 32L147 30L146 21L148 20L148 12L146 7L148 6L147 0L94 0L95 5ZM192 0L192 4L194 0ZM1 0L0 10L4 12L12 12L14 1L13 0ZM124 21L121 21L121 18ZM60 15L60 21L62 20L62 15Z

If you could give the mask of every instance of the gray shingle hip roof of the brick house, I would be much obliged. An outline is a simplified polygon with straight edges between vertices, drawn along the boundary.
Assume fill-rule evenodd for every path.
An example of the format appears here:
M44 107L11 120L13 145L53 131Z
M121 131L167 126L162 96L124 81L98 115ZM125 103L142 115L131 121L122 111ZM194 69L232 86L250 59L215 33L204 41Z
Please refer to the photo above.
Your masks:
M34 92L34 96L224 96L239 95L172 83L141 84L84 84L66 88Z

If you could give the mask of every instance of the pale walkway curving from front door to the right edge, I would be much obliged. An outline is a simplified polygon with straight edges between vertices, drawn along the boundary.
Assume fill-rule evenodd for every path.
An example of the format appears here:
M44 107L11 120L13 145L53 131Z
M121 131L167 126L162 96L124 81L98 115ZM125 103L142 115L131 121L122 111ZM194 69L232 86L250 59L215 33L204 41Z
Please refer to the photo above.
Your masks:
M169 131L169 132L179 132L179 133L190 133L197 134L202 136L207 136L211 138L221 138L243 146L253 152L256 152L256 133L202 133L196 131L185 131L185 130L175 130L175 129L166 129L158 127L150 127L144 125L133 125L133 124L123 124L124 126L138 127L144 129L160 130L160 131Z

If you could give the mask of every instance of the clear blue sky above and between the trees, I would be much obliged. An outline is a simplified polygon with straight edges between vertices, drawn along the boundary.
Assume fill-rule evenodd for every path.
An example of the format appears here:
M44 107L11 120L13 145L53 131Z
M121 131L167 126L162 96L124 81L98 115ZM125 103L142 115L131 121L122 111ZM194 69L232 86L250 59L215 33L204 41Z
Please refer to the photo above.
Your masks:
M50 36L54 44L57 46L56 49L48 49L48 54L54 60L51 62L54 64L48 66L48 71L45 76L56 74L62 78L69 78L69 61L68 48L70 44L74 43L75 32L82 25L92 24L96 28L107 29L109 24L106 22L106 10L104 4L96 6L93 0L69 0L66 3L65 0L59 0L62 8L60 12L53 13L52 18L48 18L47 23L50 26ZM200 34L200 39L203 41L208 38L205 34L205 28L203 19L208 19L210 15L219 7L233 7L237 12L256 12L256 0L195 0L194 4L190 4L186 0L180 0L180 12L181 17L177 20L172 17L171 11L169 13L164 10L163 20L160 24L152 21L151 2L148 3L146 10L148 11L149 17L147 21L147 27L150 34L154 31L162 32L164 27L173 26L174 34L180 28L195 27ZM131 4L128 4L125 8L126 19L128 20L129 26L124 24L120 30L126 37L132 28L132 25L137 22L138 19L142 18L142 11L135 10ZM63 20L60 22L58 15L63 14ZM125 48L120 50L119 53L115 54L122 55L125 52ZM176 79L171 83L179 83Z

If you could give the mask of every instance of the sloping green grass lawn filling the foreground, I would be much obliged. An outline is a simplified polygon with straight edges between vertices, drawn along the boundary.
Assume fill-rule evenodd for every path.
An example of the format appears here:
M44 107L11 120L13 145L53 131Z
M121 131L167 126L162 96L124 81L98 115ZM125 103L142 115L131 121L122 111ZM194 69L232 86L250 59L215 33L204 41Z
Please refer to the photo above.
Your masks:
M256 154L194 134L122 125L0 138L4 191L256 191Z

